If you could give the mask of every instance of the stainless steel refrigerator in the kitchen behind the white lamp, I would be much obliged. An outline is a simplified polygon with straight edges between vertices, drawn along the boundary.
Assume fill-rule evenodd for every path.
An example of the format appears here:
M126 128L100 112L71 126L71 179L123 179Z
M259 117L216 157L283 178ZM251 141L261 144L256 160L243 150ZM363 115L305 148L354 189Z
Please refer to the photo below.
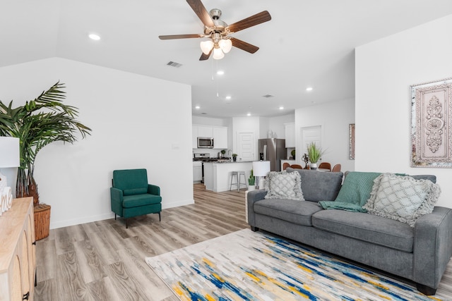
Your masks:
M281 171L286 156L285 139L259 139L259 160L270 161L270 171Z

